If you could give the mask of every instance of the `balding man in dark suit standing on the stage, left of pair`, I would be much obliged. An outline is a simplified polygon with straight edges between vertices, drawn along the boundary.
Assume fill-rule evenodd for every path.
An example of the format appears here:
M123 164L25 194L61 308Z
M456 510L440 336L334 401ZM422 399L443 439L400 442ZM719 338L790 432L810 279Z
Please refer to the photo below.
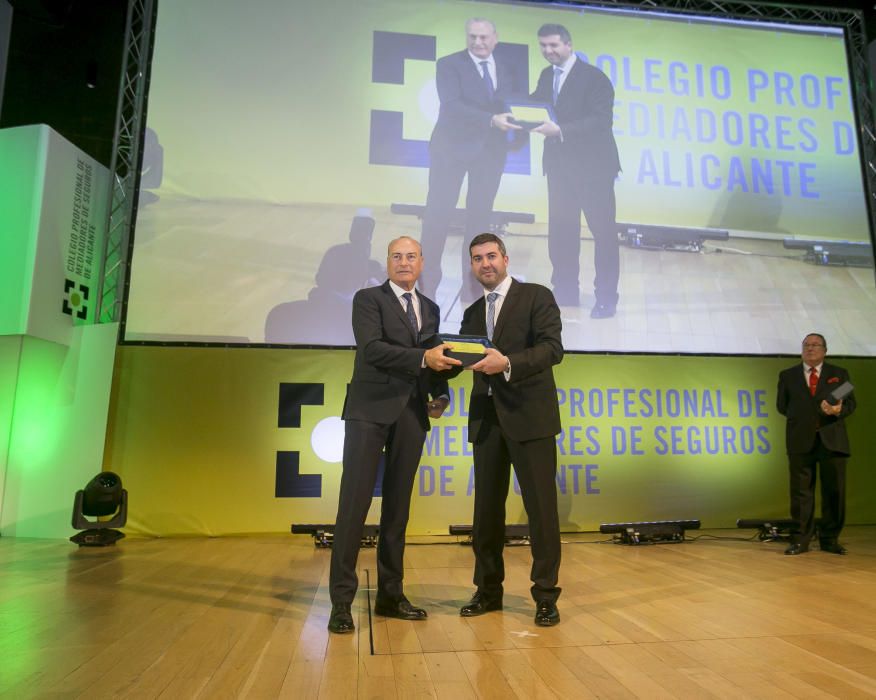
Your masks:
M404 620L426 618L402 586L405 529L429 418L441 416L448 404L447 381L436 372L459 361L445 357L445 346L437 341L438 306L415 289L423 268L420 244L407 236L392 241L386 268L386 282L353 297L356 357L342 413L343 474L329 574L328 628L335 633L353 631L356 559L384 451L374 611Z

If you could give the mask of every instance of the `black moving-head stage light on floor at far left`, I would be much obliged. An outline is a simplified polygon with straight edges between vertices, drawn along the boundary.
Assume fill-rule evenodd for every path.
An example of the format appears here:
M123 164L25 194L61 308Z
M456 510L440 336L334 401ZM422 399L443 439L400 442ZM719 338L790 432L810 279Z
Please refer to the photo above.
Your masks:
M109 520L88 520L105 518ZM80 547L106 547L115 544L125 534L114 528L124 527L128 521L128 492L114 472L101 472L77 491L73 499L73 527L78 532L70 538Z

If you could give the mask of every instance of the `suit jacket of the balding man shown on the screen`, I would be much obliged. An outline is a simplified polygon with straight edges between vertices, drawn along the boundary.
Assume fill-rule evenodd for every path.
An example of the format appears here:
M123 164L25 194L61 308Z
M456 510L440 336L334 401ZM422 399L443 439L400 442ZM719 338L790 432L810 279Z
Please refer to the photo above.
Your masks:
M435 83L441 106L432 131L431 151L469 161L476 159L484 148L508 149L505 132L493 129L490 120L494 114L508 111L507 100L514 91L516 76L501 58L501 51L494 51L493 58L497 86L492 98L468 51L438 59Z

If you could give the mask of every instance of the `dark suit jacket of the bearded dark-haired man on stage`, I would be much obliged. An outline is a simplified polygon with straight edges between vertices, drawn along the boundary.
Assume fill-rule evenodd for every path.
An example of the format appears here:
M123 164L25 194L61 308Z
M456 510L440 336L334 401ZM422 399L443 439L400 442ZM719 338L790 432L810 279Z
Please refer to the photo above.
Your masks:
M493 345L511 361L511 381L503 374L473 372L468 437L476 442L486 411L488 386L502 429L525 442L560 432L560 409L553 366L563 359L563 323L554 296L539 284L512 280L493 330ZM460 333L486 335L484 297L462 316Z

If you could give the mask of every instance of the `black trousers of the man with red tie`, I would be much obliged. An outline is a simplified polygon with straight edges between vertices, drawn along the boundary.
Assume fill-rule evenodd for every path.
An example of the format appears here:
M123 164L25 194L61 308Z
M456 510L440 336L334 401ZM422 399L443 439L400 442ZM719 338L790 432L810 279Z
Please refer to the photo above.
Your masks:
M816 472L821 476L818 538L825 542L839 537L846 520L846 462L845 455L827 449L820 437L809 452L788 455L794 542L809 544L815 535Z

